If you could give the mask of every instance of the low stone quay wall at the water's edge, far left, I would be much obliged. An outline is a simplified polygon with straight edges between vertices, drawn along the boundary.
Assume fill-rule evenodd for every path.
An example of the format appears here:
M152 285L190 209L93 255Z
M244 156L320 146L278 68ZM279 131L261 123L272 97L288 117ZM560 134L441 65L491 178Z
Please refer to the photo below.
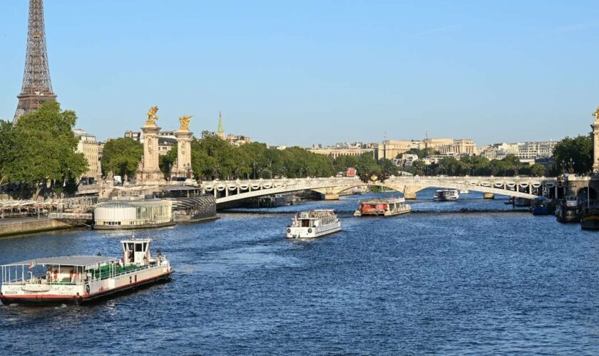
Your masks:
M44 231L72 229L86 226L81 222L48 219L47 217L25 217L0 219L0 237L35 234Z

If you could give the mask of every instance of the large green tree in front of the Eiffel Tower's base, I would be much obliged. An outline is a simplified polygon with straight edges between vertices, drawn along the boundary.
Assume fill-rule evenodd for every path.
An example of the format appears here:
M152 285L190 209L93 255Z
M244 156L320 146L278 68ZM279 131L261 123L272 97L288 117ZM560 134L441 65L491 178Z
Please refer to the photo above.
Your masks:
M73 127L77 115L61 110L55 101L43 103L35 112L19 117L12 127L11 162L4 167L11 182L34 189L36 199L42 189L63 187L68 180L88 170L83 153L76 152ZM6 128L4 128L6 130Z

